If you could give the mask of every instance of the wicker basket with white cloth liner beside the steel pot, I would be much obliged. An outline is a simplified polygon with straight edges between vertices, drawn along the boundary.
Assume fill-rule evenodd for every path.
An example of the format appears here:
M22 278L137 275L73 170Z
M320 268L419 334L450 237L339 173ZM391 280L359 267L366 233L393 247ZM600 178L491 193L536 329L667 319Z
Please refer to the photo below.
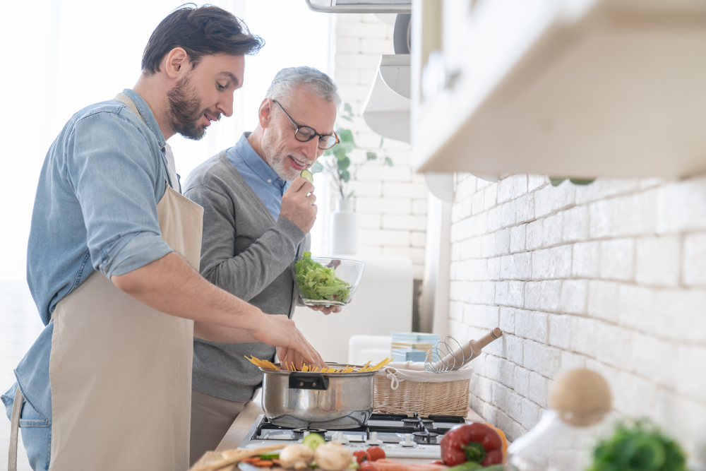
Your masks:
M422 371L419 371L421 368ZM470 369L429 373L424 363L390 363L374 381L373 412L460 415L469 411Z

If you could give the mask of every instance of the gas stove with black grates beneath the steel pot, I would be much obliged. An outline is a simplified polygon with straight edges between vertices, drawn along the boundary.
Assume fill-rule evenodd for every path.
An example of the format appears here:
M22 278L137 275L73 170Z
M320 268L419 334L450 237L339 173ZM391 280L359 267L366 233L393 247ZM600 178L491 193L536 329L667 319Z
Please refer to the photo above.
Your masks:
M352 451L377 445L389 458L441 458L439 443L451 427L465 422L457 415L419 417L397 414L373 414L363 427L344 430L292 429L268 421L264 415L250 428L239 448L259 448L277 443L301 443L304 436L316 432L326 441L338 441Z

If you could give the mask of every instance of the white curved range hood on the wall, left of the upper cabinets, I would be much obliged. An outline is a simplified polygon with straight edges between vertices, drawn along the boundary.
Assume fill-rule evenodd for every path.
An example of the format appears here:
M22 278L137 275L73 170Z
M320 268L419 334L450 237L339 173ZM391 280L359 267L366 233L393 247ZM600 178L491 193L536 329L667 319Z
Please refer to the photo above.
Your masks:
M383 54L363 119L370 129L385 138L409 142L409 54Z

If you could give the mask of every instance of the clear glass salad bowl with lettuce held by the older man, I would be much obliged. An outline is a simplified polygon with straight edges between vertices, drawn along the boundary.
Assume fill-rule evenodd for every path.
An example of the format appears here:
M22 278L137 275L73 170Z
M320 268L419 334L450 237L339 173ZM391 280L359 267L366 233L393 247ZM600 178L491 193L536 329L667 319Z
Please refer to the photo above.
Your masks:
M312 257L292 262L294 285L306 306L345 306L358 287L365 263L345 258Z

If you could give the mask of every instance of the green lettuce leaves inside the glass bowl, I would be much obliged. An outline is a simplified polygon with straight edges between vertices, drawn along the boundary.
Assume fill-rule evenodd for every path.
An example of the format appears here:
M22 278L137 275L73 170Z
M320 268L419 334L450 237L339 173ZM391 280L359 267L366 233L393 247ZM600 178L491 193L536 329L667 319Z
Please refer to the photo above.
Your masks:
M304 252L294 263L294 279L304 299L345 302L351 290L350 283L338 278L333 268L313 261L311 252Z

